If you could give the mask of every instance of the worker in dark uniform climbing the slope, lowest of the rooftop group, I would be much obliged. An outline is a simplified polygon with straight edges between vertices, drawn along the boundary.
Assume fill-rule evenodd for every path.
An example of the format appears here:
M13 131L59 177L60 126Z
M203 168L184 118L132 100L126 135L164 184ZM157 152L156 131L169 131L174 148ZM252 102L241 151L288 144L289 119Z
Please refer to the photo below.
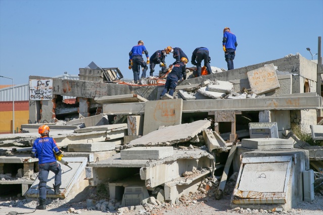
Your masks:
M183 79L186 79L186 64L188 63L187 58L181 58L180 62L176 63L172 69L172 71L168 74L165 88L163 89L162 93L160 94L160 99L165 95L166 92L169 91L169 95L173 95L175 88L177 86L178 80L183 77Z

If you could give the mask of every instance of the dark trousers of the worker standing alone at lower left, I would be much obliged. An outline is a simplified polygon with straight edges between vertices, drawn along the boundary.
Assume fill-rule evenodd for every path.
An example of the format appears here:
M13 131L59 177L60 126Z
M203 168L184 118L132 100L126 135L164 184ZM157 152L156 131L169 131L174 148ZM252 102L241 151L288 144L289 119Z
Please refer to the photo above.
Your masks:
M39 173L39 197L41 199L46 198L46 184L48 180L48 174L52 171L55 174L55 186L62 184L62 170L61 165L57 162L45 163L38 165Z

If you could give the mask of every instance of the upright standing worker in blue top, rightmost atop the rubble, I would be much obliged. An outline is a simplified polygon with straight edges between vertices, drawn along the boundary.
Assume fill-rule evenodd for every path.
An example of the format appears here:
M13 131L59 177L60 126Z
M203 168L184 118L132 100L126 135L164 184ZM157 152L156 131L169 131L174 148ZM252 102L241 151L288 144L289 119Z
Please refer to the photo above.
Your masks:
M236 56L236 48L238 46L236 35L234 35L230 28L225 27L223 29L223 51L224 51L224 57L225 61L227 63L227 70L233 70L233 60Z

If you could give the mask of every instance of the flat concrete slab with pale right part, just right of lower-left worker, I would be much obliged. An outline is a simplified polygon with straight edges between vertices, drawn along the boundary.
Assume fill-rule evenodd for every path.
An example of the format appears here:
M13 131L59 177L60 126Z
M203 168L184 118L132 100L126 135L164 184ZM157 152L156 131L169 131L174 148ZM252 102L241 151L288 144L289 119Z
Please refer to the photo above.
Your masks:
M114 150L116 145L121 145L122 143L123 143L123 139L114 140L111 142L90 142L90 143L68 144L67 151L70 151L70 152L110 151L110 150Z

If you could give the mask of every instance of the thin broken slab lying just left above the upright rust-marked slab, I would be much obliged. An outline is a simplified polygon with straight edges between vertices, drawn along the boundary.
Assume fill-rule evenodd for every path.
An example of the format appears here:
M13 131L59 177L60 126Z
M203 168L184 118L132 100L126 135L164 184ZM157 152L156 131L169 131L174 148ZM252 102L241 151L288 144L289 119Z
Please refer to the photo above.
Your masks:
M146 98L143 98L138 94L110 95L110 96L103 96L103 97L95 97L94 100L100 104L148 101Z

